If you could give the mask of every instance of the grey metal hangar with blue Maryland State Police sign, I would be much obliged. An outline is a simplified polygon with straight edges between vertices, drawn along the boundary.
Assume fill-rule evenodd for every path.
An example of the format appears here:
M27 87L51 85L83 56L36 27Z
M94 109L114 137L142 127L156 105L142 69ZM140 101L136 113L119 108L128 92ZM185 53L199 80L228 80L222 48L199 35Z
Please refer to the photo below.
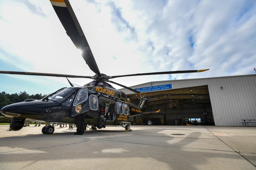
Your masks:
M133 125L146 125L149 120L154 125L182 125L188 118L192 124L243 126L243 119L256 120L255 84L256 74L135 85L130 88L146 93L146 111L161 111L130 117L130 121ZM131 103L138 103L138 94L119 90Z

